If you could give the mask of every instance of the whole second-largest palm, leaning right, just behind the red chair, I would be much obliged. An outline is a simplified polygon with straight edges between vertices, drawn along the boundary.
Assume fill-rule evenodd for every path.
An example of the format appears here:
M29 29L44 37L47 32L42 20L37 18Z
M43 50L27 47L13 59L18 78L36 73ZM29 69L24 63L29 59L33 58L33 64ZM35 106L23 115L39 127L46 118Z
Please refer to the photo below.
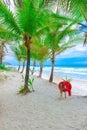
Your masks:
M77 34L77 30L70 28L73 24L74 24L74 22L70 23L64 29L63 28L59 28L59 30L54 29L53 32L48 34L48 37L46 36L47 39L45 39L45 40L47 42L45 41L45 43L46 43L46 46L48 46L48 48L49 48L49 57L51 58L51 62L52 62L52 68L51 68L49 82L53 81L55 56L60 54L61 52L65 51L67 48L70 48L76 44L75 42L73 42L73 44L71 44L72 39L74 38L74 40L75 40L74 35ZM66 38L67 35L68 36L70 35L69 43L66 43L63 40ZM78 36L78 34L76 36Z

